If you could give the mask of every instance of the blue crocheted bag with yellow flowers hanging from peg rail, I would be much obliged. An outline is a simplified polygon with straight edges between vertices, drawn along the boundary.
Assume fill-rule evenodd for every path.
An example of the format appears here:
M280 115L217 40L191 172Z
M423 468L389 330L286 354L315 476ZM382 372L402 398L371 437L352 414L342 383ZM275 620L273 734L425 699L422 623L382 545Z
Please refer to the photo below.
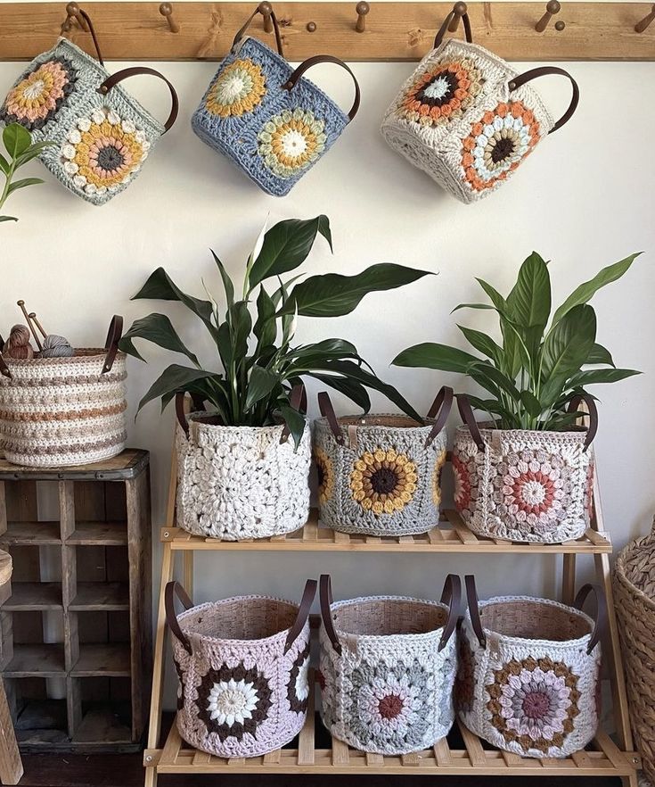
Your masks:
M257 38L244 37L250 19L234 37L201 104L192 128L223 153L267 194L284 196L332 147L359 109L359 85L345 62L329 54L310 57L297 69L284 59L275 18L277 53ZM346 114L303 74L321 62L348 71L355 102Z

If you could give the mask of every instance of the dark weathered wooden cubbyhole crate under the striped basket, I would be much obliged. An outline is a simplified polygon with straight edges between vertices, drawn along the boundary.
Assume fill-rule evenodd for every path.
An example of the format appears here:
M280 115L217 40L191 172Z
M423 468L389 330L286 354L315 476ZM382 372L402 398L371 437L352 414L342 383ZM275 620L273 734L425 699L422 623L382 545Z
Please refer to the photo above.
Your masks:
M0 460L0 547L13 559L0 671L20 749L139 750L151 675L147 451L52 470Z

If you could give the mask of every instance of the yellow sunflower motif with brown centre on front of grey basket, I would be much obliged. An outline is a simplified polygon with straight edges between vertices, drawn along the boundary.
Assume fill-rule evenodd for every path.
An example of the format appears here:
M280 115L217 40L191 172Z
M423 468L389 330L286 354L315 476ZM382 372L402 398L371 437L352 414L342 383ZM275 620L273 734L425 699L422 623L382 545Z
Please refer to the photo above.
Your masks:
M416 465L393 448L365 451L353 463L350 493L365 511L376 517L405 508L416 492Z

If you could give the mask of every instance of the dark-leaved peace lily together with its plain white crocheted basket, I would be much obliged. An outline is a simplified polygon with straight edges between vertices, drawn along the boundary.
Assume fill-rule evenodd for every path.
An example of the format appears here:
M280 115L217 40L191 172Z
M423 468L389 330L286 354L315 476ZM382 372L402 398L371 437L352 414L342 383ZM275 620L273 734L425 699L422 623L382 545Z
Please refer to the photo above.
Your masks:
M372 388L421 420L373 373L354 344L344 339L296 344L294 338L299 317L348 314L365 294L408 284L427 271L379 264L355 276L328 273L282 281L306 260L319 234L332 248L326 216L280 221L262 230L246 263L241 297L214 254L223 308L209 290L209 300L183 293L162 268L135 295L184 303L217 347L220 370L203 369L168 317L157 313L137 319L120 343L137 358L134 340L141 338L191 361L165 369L139 409L157 398L162 408L174 398L179 402L184 392L197 406L209 405L209 412L192 413L188 425L178 408L177 524L194 534L234 541L289 533L306 522L311 446L307 418L300 412L303 377L332 386L364 411L371 404L366 389Z

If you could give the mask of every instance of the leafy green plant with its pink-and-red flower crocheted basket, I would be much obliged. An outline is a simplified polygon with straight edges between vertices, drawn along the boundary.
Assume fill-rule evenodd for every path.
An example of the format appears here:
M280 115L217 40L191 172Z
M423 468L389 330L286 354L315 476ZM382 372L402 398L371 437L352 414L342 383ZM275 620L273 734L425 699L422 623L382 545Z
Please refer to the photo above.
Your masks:
M533 252L506 298L478 279L490 303L462 303L454 310L488 309L498 315L500 344L458 326L483 358L427 343L409 347L393 361L467 375L488 394L458 396L466 426L457 429L454 440L454 502L475 533L546 543L584 534L594 474L587 449L596 425L594 398L586 386L639 374L617 369L610 352L596 343L589 301L622 277L637 256L578 286L551 317L550 274ZM588 430L576 427L583 399L591 416ZM491 421L479 426L471 405Z

